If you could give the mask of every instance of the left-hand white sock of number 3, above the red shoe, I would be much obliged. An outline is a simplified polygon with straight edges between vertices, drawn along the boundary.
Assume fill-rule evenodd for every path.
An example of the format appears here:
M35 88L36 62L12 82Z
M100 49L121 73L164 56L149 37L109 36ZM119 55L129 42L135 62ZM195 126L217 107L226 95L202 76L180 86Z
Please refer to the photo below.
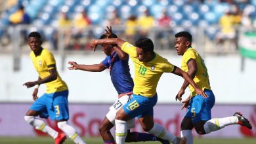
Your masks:
M41 130L42 132L45 132L45 133L51 135L51 137L53 137L54 139L58 136L58 132L56 132L55 130L53 130L53 128L51 128L50 126L45 124L45 122L43 122L43 120L40 120L33 116L24 116L24 119L30 125L35 127L35 129Z

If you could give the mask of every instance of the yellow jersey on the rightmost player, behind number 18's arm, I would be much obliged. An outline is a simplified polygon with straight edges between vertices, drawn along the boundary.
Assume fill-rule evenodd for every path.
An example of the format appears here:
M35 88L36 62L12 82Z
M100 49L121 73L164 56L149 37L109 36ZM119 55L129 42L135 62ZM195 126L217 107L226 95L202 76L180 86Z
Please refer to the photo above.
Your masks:
M199 88L202 88L202 90L204 90L205 88L207 88L208 90L211 90L207 67L205 66L205 63L201 58L200 54L198 54L198 52L194 48L188 48L188 50L184 52L182 56L182 61L181 61L181 69L183 71L188 72L187 63L191 59L196 61L196 65L198 67L198 70L196 71L196 76L193 79L194 82L196 82L196 84L198 84ZM196 91L191 85L189 85L189 89L190 89L191 96L196 96Z

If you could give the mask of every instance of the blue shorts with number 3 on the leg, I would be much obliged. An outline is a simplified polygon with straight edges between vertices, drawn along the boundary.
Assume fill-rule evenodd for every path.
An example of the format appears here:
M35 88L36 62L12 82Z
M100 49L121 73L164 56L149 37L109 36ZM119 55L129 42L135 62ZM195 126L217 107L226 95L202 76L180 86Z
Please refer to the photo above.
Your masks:
M51 120L68 120L68 90L45 93L32 104L30 109L38 111L41 118L50 116Z

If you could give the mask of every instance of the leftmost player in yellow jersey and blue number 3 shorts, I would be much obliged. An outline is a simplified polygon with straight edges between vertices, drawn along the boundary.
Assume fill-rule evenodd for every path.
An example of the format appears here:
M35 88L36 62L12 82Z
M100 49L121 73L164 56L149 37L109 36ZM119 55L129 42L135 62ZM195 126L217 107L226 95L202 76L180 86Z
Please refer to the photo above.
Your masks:
M74 141L74 143L84 144L85 142L75 129L68 124L68 86L62 81L56 69L56 62L53 54L45 48L41 47L41 35L37 31L33 31L28 35L28 45L32 52L32 59L35 70L39 74L37 81L26 82L23 85L27 88L35 86L32 97L35 101L24 119L37 130L45 132L55 139L55 144L63 143L66 135ZM46 84L47 90L43 96L37 97L40 84ZM48 118L56 120L58 128L66 133L58 133L53 128L47 126L43 120L37 118Z

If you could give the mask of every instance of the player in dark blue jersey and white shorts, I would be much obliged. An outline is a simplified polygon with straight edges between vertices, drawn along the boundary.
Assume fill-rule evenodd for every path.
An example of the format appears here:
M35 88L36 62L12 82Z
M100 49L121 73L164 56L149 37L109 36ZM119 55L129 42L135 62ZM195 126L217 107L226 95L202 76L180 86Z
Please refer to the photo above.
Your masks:
M100 39L117 38L117 35L112 33L111 27L107 27L105 34L100 36ZM102 45L102 50L106 54L106 58L99 64L94 65L81 65L76 62L68 62L71 67L68 69L79 69L83 71L101 72L105 69L110 69L111 81L116 88L118 99L110 107L110 111L106 114L106 117L100 125L100 135L104 143L114 144L115 139L110 133L110 129L115 125L116 112L122 105L127 103L131 99L133 94L133 79L131 78L129 68L129 56L117 48L116 45ZM128 129L135 127L135 119L131 119L127 122ZM130 132L128 130L125 142L138 142L138 141L161 141L161 143L169 143L169 141L159 139L152 134Z

